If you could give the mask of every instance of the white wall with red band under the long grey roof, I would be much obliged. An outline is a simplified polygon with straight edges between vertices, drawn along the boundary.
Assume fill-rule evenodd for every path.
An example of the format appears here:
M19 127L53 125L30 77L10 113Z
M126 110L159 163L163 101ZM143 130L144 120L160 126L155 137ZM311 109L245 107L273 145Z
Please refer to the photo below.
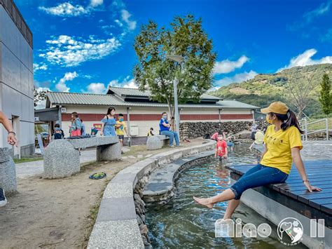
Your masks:
M94 123L101 123L107 112L104 106L66 106L66 113L62 113L62 129L66 136L69 135L69 125L71 112L77 112L87 133L90 133ZM162 107L131 107L130 109L130 126L138 126L139 135L144 137L152 127L158 134L159 121L162 112L167 112L167 108ZM116 107L116 114L122 113L127 121L127 109L125 107ZM251 121L252 114L250 109L227 109L221 112L221 121ZM219 110L216 108L183 108L180 112L180 121L200 122L200 121L219 121Z

